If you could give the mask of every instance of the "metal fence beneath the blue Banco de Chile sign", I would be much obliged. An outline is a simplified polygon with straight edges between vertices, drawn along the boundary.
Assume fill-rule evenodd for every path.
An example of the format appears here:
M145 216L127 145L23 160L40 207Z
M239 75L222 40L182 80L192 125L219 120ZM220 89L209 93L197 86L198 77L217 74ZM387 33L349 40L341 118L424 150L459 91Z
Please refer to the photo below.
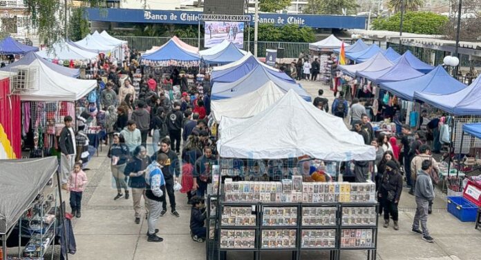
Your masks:
M170 37L134 37L134 36L115 36L118 39L129 42L129 47L141 52L149 50L152 46L162 46L167 43ZM199 40L197 38L180 38L185 43L191 46L199 46ZM278 41L258 41L257 53L260 57L265 56L266 49L284 49L285 58L297 58L299 53L308 52L309 43L288 43ZM200 50L204 50L204 39L200 39ZM254 42L244 41L244 50L250 50L254 52Z

